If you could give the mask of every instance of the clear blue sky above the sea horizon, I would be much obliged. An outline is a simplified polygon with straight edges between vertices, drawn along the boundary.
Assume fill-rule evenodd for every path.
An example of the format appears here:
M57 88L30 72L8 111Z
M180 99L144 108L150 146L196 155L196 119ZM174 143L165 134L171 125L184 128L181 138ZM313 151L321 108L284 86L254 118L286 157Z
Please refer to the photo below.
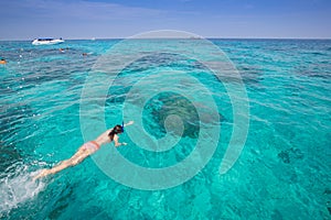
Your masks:
M3 0L0 18L0 40L110 38L153 30L331 38L331 0Z

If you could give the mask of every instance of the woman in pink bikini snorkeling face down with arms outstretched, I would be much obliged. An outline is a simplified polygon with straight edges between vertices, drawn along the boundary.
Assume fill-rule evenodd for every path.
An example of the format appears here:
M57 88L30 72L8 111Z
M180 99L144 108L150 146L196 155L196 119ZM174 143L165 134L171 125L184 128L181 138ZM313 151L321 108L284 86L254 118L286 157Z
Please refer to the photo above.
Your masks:
M41 173L36 175L33 179L35 180L38 178L47 176L50 174L55 174L57 172L61 172L62 169L65 169L70 166L75 166L81 162L83 162L87 156L98 151L103 144L109 143L111 141L114 141L116 147L120 145L127 145L127 143L125 142L122 143L118 142L119 139L118 134L124 132L125 127L131 124L134 124L134 121L129 121L126 124L122 123L122 125L117 124L113 129L107 130L102 135L99 135L96 140L83 144L71 158L62 161L58 165L54 166L51 169L42 169Z

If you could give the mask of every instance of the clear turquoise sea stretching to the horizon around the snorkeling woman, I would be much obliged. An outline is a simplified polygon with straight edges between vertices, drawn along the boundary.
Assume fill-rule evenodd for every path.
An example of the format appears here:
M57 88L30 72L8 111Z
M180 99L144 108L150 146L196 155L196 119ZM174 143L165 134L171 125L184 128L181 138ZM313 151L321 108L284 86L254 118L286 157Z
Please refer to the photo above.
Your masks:
M130 42L116 58L135 50L141 56L111 82L107 68L119 63L105 55L120 42L0 42L0 58L8 62L0 65L0 219L331 219L331 41L209 40L236 67L248 101L248 123L238 124L247 135L225 173L220 166L237 127L232 98L242 98L231 97L226 85L235 88L238 80L231 72L220 79L183 54L150 54L142 46L194 52L200 40L191 38ZM205 50L209 59L213 54ZM110 67L96 72L103 59ZM128 145L105 145L75 167L31 179L122 119L136 121L120 136ZM139 128L150 140L135 133ZM168 148L145 148L170 130L158 145ZM143 170L160 170L184 162L199 140L205 151L215 150L194 155L192 164L202 166L181 183L174 182L190 167L149 176L154 184L147 186L145 174L114 160L117 153Z

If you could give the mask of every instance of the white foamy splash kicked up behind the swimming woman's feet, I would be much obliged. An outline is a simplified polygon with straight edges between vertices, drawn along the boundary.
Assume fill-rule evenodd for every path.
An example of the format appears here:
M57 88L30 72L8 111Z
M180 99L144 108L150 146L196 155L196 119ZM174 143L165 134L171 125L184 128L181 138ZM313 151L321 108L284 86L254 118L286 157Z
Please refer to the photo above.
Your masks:
M38 172L29 173L26 165L14 166L14 174L10 173L0 178L0 218L20 204L32 199L45 187L45 183L33 180ZM12 172L12 167L10 169Z

